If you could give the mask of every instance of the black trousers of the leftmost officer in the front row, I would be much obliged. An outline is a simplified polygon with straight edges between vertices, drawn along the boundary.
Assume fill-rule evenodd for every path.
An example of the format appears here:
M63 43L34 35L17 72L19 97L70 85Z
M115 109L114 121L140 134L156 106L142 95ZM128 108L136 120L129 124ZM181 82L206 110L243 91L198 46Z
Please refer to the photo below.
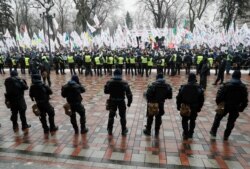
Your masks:
M26 114L25 114L27 105L26 105L24 98L19 98L19 99L14 99L14 100L10 99L10 106L11 106L10 120L13 123L13 129L18 128L18 123L17 123L18 114L22 122L22 129L25 129L28 124L27 124Z

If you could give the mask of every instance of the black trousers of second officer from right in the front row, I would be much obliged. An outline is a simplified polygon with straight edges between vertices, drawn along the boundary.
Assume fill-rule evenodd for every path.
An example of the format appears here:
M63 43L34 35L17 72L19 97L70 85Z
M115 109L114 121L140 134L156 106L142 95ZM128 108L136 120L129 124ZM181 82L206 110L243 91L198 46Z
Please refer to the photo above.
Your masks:
M182 129L183 129L183 135L184 136L192 136L194 133L195 128L195 121L198 116L197 112L192 111L190 117L182 116ZM189 122L189 124L188 124Z

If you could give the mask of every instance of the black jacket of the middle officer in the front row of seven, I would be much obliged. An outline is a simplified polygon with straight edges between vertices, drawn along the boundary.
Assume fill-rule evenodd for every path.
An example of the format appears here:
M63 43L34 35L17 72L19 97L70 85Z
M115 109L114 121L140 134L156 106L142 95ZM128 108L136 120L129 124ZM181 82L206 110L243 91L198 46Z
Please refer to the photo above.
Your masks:
M124 100L125 95L128 99L128 105L133 101L133 95L128 83L121 78L112 78L104 86L104 93L110 94L111 100Z

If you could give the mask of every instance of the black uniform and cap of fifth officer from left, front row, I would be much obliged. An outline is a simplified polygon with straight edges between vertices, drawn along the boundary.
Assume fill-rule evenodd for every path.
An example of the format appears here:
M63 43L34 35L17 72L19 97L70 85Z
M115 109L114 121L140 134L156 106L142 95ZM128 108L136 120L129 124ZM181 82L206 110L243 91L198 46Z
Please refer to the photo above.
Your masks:
M157 75L157 80L149 85L146 98L148 102L156 102L159 105L159 113L155 116L155 135L159 135L159 130L162 124L162 116L165 114L164 102L166 99L172 99L172 88L165 82L162 74ZM154 116L149 116L147 112L147 125L143 130L144 134L151 134L151 126L154 120Z

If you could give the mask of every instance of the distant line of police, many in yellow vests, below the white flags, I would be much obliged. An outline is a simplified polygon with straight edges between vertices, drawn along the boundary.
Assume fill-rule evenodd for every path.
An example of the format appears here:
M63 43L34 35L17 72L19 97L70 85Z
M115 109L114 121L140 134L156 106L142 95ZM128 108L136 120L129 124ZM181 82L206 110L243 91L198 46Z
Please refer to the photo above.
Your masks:
M25 74L25 68L28 68L29 73L38 69L39 64L47 58L48 53L22 53L0 55L0 73L4 73L3 67L6 65L10 71L16 70L18 66L21 68L21 73ZM250 54L249 51L243 52L221 52L212 50L138 50L138 49L123 49L123 50L97 50L97 51L79 51L79 52L56 52L53 54L53 64L56 74L65 74L65 68L70 69L70 73L93 74L102 76L111 75L112 68L125 69L126 74L146 75L151 74L152 68L157 69L157 73L163 73L174 76L180 74L180 69L185 68L186 74L190 73L192 66L196 67L197 74L201 71L203 58L207 58L209 69L214 68L217 75L219 64L225 58L225 69L229 74L230 69L240 70L242 67L249 68ZM250 73L250 72L249 72Z

